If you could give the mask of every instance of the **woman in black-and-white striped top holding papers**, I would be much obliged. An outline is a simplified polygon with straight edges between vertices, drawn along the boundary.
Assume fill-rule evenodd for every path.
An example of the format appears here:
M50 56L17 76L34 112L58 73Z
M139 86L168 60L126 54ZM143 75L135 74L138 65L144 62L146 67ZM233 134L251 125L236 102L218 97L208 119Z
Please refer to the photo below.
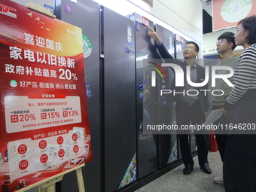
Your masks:
M239 21L235 43L244 51L234 70L233 85L222 111L229 116L224 154L227 192L256 191L256 15Z

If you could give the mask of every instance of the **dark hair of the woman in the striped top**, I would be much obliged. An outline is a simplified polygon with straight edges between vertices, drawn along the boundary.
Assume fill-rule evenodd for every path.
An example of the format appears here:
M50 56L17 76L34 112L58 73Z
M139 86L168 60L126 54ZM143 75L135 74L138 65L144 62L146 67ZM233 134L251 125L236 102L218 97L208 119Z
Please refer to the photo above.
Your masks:
M237 25L239 24L242 24L242 27L249 32L246 37L247 43L256 44L256 15L240 20Z

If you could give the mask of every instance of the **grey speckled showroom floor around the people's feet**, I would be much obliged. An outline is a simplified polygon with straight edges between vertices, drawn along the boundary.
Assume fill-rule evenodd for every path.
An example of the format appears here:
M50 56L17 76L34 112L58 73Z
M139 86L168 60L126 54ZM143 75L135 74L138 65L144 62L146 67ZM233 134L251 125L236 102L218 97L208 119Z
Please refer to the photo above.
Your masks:
M194 157L194 171L190 175L183 175L184 165L181 165L136 192L224 192L224 184L215 184L213 181L213 178L222 174L222 162L218 151L209 151L208 160L212 169L210 175L200 170L197 157Z

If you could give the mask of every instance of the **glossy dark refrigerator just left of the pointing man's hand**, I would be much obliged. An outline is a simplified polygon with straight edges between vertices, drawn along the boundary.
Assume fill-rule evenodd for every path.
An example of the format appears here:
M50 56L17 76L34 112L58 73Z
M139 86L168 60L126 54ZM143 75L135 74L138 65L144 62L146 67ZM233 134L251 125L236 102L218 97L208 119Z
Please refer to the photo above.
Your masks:
M148 26L154 29L154 23L137 13L127 17L134 21L135 26L137 173L138 178L142 178L158 169L158 136L143 131L146 125L157 123L157 87L151 86L154 69L149 67L149 62L156 61L156 47L154 40L148 37Z

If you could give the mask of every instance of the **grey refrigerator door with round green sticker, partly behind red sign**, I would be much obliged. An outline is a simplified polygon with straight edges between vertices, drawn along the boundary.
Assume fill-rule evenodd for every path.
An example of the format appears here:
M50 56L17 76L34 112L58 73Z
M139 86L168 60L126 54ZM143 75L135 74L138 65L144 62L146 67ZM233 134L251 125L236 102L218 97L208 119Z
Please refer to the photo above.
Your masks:
M87 81L87 108L93 161L87 163L82 170L84 185L87 191L101 191L99 5L91 0L78 0L77 3L68 0L58 0L56 1L55 11L58 19L80 27L84 35L84 68ZM75 172L66 174L62 179L61 191L78 191Z

